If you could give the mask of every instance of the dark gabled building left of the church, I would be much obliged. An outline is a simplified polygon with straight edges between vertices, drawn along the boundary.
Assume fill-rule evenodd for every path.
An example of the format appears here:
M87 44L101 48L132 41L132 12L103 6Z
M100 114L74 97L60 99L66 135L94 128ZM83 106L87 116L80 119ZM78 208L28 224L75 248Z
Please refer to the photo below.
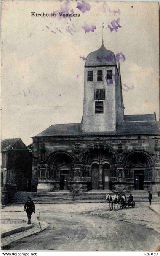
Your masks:
M1 191L30 191L32 153L21 139L1 139Z

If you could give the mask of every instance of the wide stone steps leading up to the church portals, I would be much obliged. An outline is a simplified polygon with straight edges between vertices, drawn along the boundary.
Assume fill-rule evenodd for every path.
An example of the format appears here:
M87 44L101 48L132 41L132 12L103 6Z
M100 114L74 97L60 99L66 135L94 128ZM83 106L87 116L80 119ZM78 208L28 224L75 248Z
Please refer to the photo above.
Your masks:
M124 192L125 193L125 192ZM149 203L147 191L131 191L133 200L136 203ZM10 203L25 203L27 196L31 196L34 203L106 203L106 194L114 195L110 190L91 190L88 192L75 194L73 201L73 194L70 191L53 191L46 193L37 192L17 192L14 199ZM158 203L159 198L157 194L152 193L152 203ZM130 193L125 193L128 199Z

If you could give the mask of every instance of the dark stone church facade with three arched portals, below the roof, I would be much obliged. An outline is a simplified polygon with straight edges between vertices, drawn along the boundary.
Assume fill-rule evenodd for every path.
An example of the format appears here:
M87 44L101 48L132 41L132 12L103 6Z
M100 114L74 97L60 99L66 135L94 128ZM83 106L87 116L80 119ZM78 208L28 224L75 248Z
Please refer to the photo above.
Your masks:
M32 191L73 186L82 192L92 188L112 190L116 186L157 192L160 190L157 139L153 135L34 138L37 150L32 167ZM97 164L97 170L93 171L93 164ZM105 164L109 166L108 173Z

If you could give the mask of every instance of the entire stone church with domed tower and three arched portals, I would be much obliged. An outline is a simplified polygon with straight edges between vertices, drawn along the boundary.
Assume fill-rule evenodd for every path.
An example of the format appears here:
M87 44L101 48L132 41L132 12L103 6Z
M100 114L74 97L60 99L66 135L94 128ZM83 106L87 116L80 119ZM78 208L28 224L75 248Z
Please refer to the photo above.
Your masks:
M81 123L34 136L32 191L160 191L156 114L125 115L120 64L102 46L85 62Z

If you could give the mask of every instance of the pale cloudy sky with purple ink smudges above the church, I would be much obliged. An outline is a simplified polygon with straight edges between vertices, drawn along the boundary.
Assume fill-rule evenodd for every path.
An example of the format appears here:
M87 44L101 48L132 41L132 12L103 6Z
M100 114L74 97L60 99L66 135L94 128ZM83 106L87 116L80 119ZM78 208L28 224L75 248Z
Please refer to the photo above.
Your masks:
M4 1L2 138L28 145L50 125L81 122L85 58L101 47L102 23L104 46L123 56L125 114L159 118L157 2Z

